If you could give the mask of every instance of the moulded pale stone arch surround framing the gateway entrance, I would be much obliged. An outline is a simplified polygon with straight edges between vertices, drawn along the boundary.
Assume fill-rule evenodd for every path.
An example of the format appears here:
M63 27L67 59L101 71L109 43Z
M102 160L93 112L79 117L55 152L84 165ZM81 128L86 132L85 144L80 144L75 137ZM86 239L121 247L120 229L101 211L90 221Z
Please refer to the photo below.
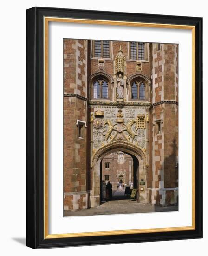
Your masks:
M92 191L90 196L90 206L100 205L100 163L105 155L115 151L122 151L134 156L139 165L137 178L141 172L146 173L146 155L142 148L133 145L128 141L113 141L98 149L92 159ZM138 201L139 202L139 196Z

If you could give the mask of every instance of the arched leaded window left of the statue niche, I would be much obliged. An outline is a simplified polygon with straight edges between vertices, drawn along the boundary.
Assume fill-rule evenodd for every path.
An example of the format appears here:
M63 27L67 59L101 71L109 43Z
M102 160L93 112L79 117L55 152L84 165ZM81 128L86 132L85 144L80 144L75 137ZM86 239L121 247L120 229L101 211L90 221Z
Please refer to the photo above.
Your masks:
M108 99L108 82L99 78L93 82L93 98L94 99Z

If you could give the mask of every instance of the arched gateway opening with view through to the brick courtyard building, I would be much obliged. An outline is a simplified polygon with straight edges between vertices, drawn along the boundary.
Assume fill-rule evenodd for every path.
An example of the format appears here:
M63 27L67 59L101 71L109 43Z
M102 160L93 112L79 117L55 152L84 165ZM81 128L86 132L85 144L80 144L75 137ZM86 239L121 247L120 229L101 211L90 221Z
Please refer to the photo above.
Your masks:
M128 199L133 188L139 190L138 170L139 162L134 155L123 151L105 155L100 162L100 202Z

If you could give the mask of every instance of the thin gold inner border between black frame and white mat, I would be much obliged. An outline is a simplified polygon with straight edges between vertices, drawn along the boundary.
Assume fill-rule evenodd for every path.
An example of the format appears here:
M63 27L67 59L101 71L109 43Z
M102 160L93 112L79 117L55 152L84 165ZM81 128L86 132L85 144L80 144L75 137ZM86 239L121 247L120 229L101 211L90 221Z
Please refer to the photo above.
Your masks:
M154 229L127 229L113 231L93 231L83 233L48 234L48 25L49 22L84 23L113 26L153 27L192 30L192 225L187 227L170 227ZM121 234L141 234L195 230L195 26L160 23L143 23L116 20L88 20L44 17L44 238L66 238L83 236L107 236Z

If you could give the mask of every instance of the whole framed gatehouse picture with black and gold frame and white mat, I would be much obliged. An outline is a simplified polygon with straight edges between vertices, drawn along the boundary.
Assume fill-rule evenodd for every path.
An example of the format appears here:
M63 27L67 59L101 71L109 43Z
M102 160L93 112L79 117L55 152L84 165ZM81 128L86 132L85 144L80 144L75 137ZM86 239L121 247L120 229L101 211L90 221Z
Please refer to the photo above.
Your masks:
M202 18L27 10L27 246L202 238Z

